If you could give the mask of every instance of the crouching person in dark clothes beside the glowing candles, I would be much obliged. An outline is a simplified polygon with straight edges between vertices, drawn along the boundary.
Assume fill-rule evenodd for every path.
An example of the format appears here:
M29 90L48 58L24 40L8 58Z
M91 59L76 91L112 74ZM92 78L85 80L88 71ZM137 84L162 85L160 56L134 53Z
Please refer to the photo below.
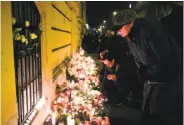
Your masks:
M137 84L136 73L131 74L132 71L126 70L126 66L116 59L108 50L100 53L100 61L106 65L101 91L110 104L124 103L131 106L128 97Z

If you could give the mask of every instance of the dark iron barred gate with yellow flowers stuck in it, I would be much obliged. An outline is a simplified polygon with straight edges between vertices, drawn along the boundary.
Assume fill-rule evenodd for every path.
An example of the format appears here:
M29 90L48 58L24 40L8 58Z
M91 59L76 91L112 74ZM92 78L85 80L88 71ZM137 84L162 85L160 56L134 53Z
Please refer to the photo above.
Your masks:
M34 2L12 2L18 125L42 96L40 14Z

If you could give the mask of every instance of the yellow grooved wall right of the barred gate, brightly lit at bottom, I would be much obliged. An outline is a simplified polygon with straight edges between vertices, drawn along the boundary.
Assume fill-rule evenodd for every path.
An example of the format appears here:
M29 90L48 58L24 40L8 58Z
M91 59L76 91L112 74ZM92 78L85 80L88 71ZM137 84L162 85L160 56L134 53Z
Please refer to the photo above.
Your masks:
M52 90L43 89L43 95L51 102L55 93L52 70L67 56L76 52L79 46L77 33L80 31L77 29L76 12L72 11L66 2L36 2L36 5L41 14L44 31L41 43L43 85L52 88ZM65 45L68 46L62 48ZM55 49L57 50L54 51Z

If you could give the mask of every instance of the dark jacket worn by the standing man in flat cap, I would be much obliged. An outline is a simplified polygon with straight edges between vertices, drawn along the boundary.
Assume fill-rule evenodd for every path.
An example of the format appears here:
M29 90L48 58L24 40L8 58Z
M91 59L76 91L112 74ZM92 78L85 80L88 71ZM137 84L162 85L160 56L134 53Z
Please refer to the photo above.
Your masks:
M177 75L180 49L160 21L137 19L129 37L131 53L145 80L167 81Z

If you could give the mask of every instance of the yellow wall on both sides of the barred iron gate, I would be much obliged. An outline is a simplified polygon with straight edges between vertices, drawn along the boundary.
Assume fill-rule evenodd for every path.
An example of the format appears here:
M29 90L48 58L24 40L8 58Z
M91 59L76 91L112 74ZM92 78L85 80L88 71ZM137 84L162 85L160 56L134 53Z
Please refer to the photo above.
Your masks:
M55 96L53 69L80 46L82 24L79 15L80 2L39 2L36 6L41 15L43 27L41 39L42 93L49 105ZM72 3L71 5L69 5ZM11 23L11 2L2 2L2 122L6 125L17 114L15 70ZM71 7L73 9L71 9ZM77 10L77 11L76 11ZM62 14L61 14L62 13ZM63 14L66 16L63 16ZM68 18L68 19L67 19ZM57 30L53 30L57 29ZM63 32L64 31L64 32ZM68 45L64 48L63 46ZM59 49L61 48L61 49ZM45 110L45 109L44 109ZM42 115L40 115L42 116ZM43 116L42 116L43 118ZM43 118L44 119L44 118ZM37 120L43 121L40 118ZM38 124L38 122L34 122ZM39 123L41 124L41 122ZM11 124L14 125L14 124Z

